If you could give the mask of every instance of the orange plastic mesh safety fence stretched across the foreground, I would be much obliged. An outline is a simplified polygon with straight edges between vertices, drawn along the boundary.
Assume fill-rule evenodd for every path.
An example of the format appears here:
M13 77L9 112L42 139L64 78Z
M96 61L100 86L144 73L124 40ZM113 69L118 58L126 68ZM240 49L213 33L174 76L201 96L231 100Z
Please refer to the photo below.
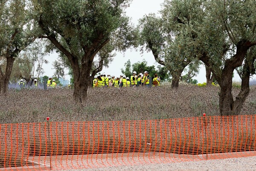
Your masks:
M0 125L0 170L45 170L256 155L256 116Z

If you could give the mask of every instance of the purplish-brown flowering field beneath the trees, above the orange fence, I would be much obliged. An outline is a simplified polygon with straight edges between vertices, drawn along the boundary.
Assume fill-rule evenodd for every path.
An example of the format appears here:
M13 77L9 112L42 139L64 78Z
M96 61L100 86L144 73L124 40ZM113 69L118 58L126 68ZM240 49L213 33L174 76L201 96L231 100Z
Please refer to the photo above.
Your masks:
M72 121L122 121L218 116L219 87L169 85L146 88L90 88L86 104L73 102L73 90L10 90L0 97L0 124ZM233 88L236 96L239 89ZM256 114L256 87L251 87L240 115ZM234 96L234 97L235 97Z

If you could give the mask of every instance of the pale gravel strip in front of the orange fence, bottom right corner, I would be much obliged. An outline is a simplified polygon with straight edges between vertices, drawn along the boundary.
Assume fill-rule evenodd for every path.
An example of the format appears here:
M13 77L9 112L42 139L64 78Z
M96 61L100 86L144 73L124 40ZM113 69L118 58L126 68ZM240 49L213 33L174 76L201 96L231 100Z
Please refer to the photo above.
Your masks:
M64 170L58 170L64 171ZM256 171L256 156L118 167L69 169L65 171Z

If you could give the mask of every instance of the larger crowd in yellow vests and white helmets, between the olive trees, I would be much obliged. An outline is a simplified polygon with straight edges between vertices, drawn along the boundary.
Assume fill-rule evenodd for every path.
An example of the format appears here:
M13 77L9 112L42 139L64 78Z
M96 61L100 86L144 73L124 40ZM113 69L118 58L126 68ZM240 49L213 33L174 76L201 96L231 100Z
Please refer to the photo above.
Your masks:
M160 86L160 77L157 74L154 75L152 80L153 86ZM95 75L93 80L93 87L138 87L138 86L150 86L150 75L148 71L144 74L134 71L131 78L126 77L126 75Z

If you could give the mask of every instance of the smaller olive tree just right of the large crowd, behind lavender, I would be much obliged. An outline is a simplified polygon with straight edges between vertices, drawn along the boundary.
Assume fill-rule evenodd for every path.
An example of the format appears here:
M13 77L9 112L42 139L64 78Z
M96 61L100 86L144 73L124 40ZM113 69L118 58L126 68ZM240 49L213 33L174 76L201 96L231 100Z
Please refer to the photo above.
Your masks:
M161 17L148 14L140 19L140 45L151 51L155 61L169 70L172 75L172 88L177 88L184 69L198 59L195 55L185 54L185 44L180 44L179 41L182 39L182 42L186 42L183 39L189 35L175 27L174 21L166 17L166 10L170 9L164 8Z

